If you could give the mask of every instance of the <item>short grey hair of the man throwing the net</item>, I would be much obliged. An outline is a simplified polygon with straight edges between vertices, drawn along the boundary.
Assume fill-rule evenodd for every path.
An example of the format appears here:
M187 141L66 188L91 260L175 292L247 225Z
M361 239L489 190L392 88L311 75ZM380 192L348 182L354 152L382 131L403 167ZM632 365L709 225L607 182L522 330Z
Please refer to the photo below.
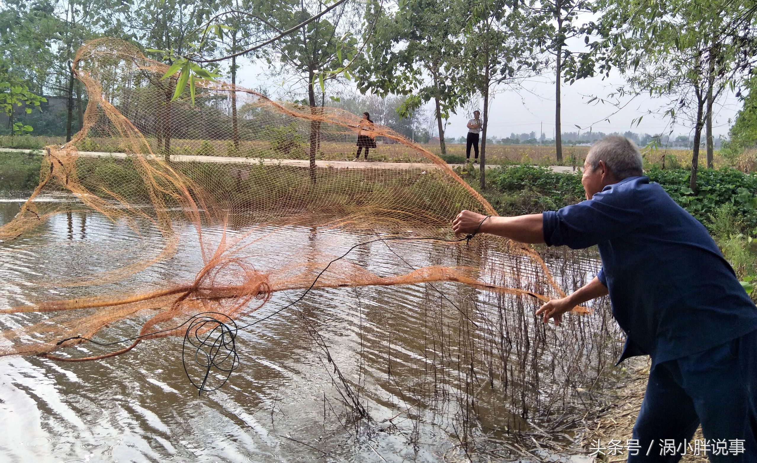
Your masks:
M620 135L610 135L595 142L586 162L591 170L600 167L603 161L618 180L643 175L643 161L636 143Z

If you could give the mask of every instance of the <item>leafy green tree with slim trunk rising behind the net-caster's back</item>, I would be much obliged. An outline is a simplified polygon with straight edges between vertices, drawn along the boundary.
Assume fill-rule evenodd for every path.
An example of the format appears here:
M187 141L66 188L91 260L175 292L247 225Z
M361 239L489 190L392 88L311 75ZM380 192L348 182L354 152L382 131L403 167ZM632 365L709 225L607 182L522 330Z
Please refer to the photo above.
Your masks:
M600 39L589 55L599 59L601 72L609 75L618 67L629 77L631 92L665 98L663 114L674 120L684 114L693 123L694 191L702 129L733 67L733 44L720 37L728 18L737 14L734 8L731 0L606 0L602 20L593 27Z

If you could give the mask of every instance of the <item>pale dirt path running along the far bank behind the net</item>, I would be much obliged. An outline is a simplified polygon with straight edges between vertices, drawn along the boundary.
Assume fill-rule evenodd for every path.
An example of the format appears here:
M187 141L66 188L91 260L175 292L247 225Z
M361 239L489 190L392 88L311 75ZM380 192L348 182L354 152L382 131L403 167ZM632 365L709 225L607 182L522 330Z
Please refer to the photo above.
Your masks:
M26 154L43 154L40 149L12 149L0 148L0 152L16 152ZM79 156L87 158L117 158L125 159L126 153L109 152L79 152ZM207 162L213 164L263 164L285 165L293 167L310 167L310 161L305 159L270 159L270 158L237 158L232 156L198 156L198 155L171 155L174 162ZM463 167L465 164L449 164L450 167ZM437 169L438 166L430 162L380 162L380 161L316 161L316 167L334 169ZM498 167L488 165L488 169ZM478 168L478 166L476 166ZM550 166L555 172L572 172L572 167Z

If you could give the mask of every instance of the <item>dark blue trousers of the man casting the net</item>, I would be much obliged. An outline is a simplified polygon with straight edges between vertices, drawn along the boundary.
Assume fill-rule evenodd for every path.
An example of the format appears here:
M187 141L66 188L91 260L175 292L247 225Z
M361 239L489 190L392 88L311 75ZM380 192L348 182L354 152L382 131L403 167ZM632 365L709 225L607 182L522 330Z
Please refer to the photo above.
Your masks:
M709 461L757 461L755 372L757 331L704 352L657 364L650 372L634 425L633 438L641 449L639 455L629 455L628 461L679 461L683 446L687 447L686 455L691 455L688 443L700 423L707 443L721 441L724 446L725 441L728 449L734 449L731 440L743 440L743 453L715 455L723 452L710 448L706 452ZM676 455L660 455L665 440L674 440L679 449Z

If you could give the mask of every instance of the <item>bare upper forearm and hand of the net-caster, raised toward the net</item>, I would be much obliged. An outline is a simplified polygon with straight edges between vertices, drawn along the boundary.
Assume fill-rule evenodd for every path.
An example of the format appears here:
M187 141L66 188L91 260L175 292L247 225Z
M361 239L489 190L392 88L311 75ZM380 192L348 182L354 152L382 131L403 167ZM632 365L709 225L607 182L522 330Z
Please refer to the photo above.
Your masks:
M462 211L452 222L452 230L457 236L475 233L491 233L519 242L544 242L544 228L541 214L519 215L516 217L489 217L483 224L485 215L472 211ZM478 227L481 224L481 227Z

